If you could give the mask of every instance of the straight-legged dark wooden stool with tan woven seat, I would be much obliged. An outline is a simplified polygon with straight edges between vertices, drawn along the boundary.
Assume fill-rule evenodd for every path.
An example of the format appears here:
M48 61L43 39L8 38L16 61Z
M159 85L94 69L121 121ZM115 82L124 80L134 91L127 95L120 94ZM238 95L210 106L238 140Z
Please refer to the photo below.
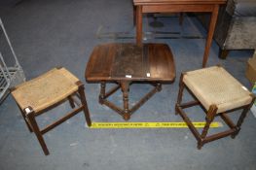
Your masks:
M18 85L12 89L12 94L18 103L18 108L29 131L35 133L46 155L49 154L49 151L43 134L53 129L56 125L66 119L70 119L80 111L84 111L87 124L91 126L84 85L65 68L55 68L38 78ZM74 95L80 98L81 103L75 100ZM74 110L40 130L35 118L64 102L65 99L69 100L70 106ZM75 104L78 105L78 108L75 108Z

